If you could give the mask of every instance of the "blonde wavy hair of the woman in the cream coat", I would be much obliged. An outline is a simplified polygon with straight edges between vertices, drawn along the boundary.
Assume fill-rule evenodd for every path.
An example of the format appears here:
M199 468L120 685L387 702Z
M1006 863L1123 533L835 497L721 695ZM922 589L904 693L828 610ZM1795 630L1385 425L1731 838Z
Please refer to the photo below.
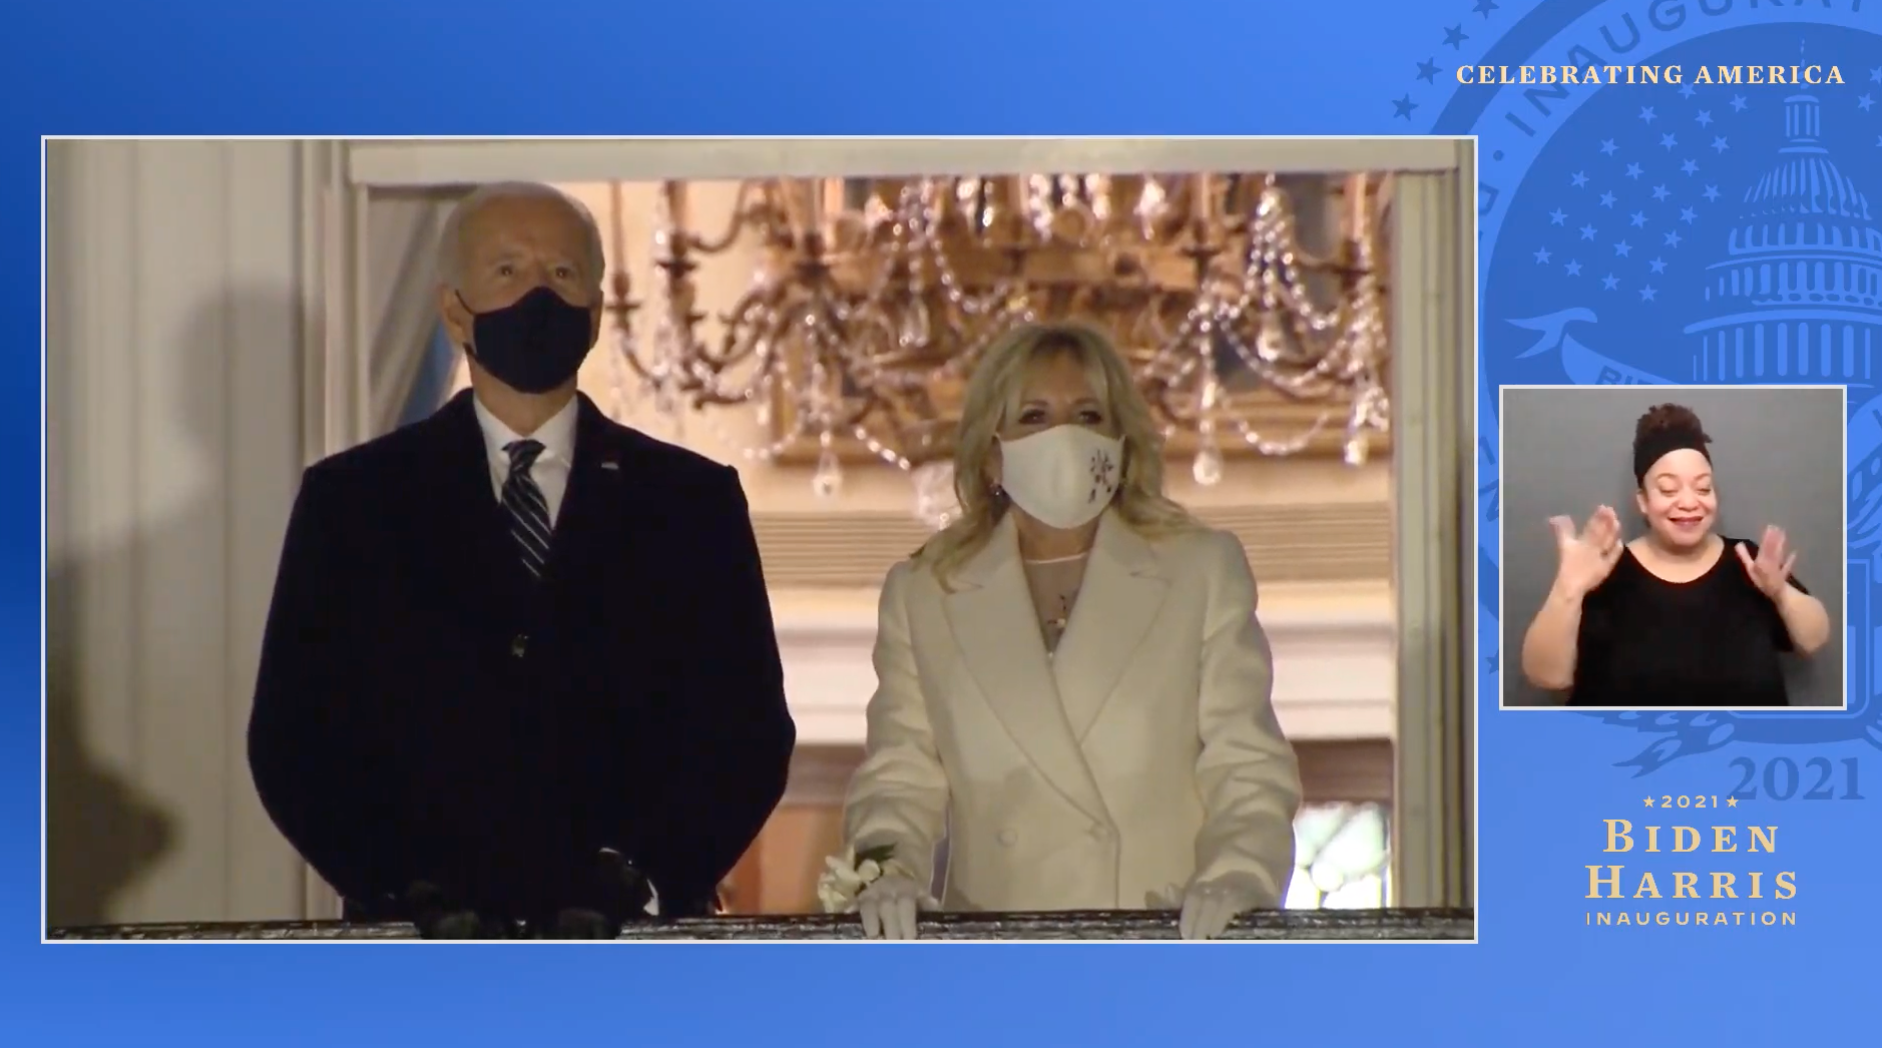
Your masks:
M1092 393L1105 405L1108 433L1124 438L1124 476L1112 497L1118 516L1146 538L1201 527L1163 495L1163 444L1150 420L1150 405L1137 391L1110 337L1086 324L1022 324L988 346L967 380L954 438L960 517L915 553L915 561L943 583L986 546L1007 516L1009 502L994 491L988 468L994 442L1018 412L1026 378L1039 363L1058 356L1078 361Z

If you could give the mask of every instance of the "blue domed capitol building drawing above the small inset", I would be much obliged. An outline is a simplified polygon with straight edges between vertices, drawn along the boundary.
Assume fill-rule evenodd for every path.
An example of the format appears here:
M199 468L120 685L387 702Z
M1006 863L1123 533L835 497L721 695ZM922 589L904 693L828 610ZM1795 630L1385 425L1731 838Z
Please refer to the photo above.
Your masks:
M1822 145L1814 94L1784 100L1784 132L1707 267L1692 380L1865 386L1882 363L1882 228Z

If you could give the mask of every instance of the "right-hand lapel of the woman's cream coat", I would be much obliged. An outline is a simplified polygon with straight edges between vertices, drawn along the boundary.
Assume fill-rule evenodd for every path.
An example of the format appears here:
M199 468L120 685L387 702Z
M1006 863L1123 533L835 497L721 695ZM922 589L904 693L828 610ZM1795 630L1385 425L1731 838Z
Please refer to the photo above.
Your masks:
M1052 657L1054 683L1075 739L1084 739L1097 722L1163 610L1169 583L1159 566L1156 549L1107 512Z

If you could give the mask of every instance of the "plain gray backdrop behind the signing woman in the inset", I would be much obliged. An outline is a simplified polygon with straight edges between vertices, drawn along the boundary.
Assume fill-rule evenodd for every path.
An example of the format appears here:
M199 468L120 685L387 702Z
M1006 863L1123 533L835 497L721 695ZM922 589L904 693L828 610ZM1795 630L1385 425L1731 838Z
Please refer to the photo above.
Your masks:
M1784 529L1797 581L1829 611L1829 643L1788 657L1792 706L1842 706L1842 389L1731 386L1575 386L1502 391L1498 525L1502 527L1504 706L1556 706L1562 694L1523 679L1523 634L1555 581L1549 517L1581 527L1596 506L1620 516L1626 538L1645 531L1634 502L1634 423L1654 405L1698 412L1718 491L1718 532L1752 542ZM1731 557L1731 553L1726 553Z

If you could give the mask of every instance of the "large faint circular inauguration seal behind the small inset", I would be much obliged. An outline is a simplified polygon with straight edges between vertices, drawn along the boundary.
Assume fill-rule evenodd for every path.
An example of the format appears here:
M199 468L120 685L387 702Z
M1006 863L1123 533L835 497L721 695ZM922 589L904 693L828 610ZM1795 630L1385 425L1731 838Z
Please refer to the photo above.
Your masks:
M1507 4L1515 8L1515 4ZM1496 389L1502 384L1846 384L1848 709L1775 713L1588 713L1654 736L1620 766L1645 775L1731 743L1882 747L1882 668L1871 608L1882 608L1882 303L1839 305L1841 346L1784 374L1718 352L1745 324L1810 322L1803 305L1746 318L1707 307L1707 267L1735 228L1797 205L1822 214L1865 267L1882 271L1882 51L1858 0L1752 11L1743 0L1641 6L1551 0L1523 17L1475 0L1417 64L1417 87L1453 88L1432 134L1479 135L1479 694L1498 694L1500 593ZM1504 19L1498 24L1498 19ZM1506 28L1507 26L1507 28ZM1483 41L1472 41L1481 36ZM1816 66L1818 83L1748 85L1698 70ZM1506 85L1457 88L1481 66L1681 66L1681 85ZM1835 66L1842 83L1826 83ZM1395 100L1410 120L1417 102ZM1805 199L1786 201L1786 196ZM1882 198L1876 198L1882 201ZM1792 218L1794 222L1794 218ZM1842 243L1842 241L1839 241ZM1715 275L1716 278L1716 275ZM1848 327L1842 333L1841 327ZM1709 346L1711 352L1709 352ZM1831 359L1833 357L1833 359ZM1814 367L1822 363L1822 367Z

